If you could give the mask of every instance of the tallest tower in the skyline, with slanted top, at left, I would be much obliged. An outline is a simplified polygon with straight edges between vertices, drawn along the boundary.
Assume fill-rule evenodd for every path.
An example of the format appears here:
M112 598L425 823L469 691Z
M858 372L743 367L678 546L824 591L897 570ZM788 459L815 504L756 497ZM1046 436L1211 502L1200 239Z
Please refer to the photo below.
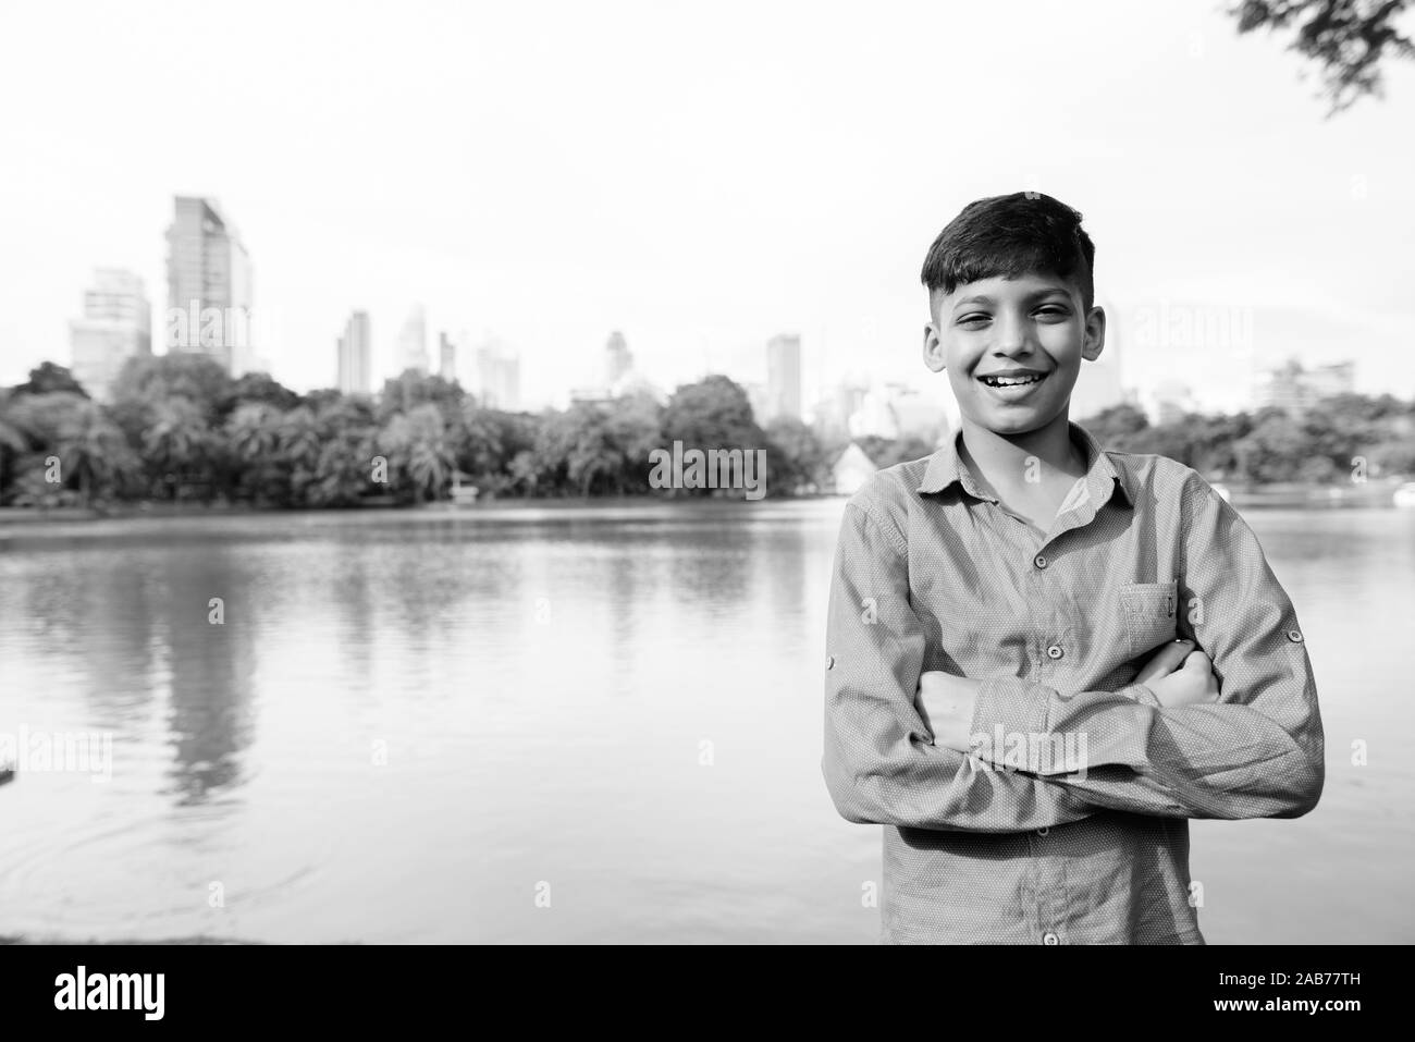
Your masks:
M177 195L167 228L168 351L207 354L233 377L255 361L250 256L215 200Z

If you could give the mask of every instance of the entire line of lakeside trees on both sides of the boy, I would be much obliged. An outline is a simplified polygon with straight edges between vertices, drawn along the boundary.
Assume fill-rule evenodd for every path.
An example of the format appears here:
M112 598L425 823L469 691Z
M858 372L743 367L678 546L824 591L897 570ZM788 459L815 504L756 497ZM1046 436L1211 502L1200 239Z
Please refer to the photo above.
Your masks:
M1160 426L1116 406L1081 423L1107 447L1170 456L1214 480L1346 480L1358 457L1373 477L1415 473L1415 405L1390 395L1339 395L1302 416L1261 409ZM666 405L631 395L522 413L412 371L378 395L300 395L265 374L232 379L209 358L170 354L130 360L108 403L51 362L0 391L0 505L413 504L446 498L454 471L490 496L647 494L649 452L675 440L766 449L773 496L829 488L845 449L799 420L758 426L726 377L679 387ZM935 445L866 437L860 447L887 467Z

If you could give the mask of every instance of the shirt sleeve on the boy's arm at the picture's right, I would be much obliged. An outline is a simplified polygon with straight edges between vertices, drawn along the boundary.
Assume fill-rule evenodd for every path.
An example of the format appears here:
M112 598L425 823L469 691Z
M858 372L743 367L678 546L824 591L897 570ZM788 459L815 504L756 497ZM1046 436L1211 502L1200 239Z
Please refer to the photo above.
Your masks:
M1298 817L1322 796L1316 680L1286 592L1257 537L1203 479L1183 486L1187 624L1220 681L1214 704L1166 709L1145 685L1068 694L1022 678L979 688L974 728L1041 731L1085 749L1029 765L1101 807L1165 817ZM1084 736L1084 746L1074 739Z

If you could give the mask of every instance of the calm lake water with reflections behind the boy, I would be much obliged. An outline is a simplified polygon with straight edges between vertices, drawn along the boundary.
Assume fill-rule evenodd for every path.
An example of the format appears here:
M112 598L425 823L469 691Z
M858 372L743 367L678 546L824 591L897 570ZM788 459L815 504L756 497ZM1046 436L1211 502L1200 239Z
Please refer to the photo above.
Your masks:
M0 936L873 943L880 830L819 769L842 508L0 527L0 733L113 736L0 787ZM1247 518L1327 787L1194 823L1200 923L1409 943L1415 511Z

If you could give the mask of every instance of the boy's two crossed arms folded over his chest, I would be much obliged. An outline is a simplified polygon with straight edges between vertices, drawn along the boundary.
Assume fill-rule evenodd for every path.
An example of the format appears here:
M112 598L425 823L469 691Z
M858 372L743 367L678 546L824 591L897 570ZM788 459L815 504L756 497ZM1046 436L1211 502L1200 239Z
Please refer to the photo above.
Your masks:
M1173 663L1165 653L1139 682L1115 692L925 670L925 626L911 607L907 565L870 513L848 508L831 589L831 653L841 665L826 671L822 762L839 813L860 823L1013 832L1098 808L1196 818L1312 810L1323 784L1323 735L1292 605L1228 504L1201 483L1186 487L1186 585L1208 620L1196 636L1221 680L1215 701L1207 663L1194 658L1166 675ZM863 627L857 606L870 597L876 617ZM925 718L935 711L942 733ZM969 736L996 725L1044 740L1084 733L1084 770L995 769L1003 750L979 755Z

